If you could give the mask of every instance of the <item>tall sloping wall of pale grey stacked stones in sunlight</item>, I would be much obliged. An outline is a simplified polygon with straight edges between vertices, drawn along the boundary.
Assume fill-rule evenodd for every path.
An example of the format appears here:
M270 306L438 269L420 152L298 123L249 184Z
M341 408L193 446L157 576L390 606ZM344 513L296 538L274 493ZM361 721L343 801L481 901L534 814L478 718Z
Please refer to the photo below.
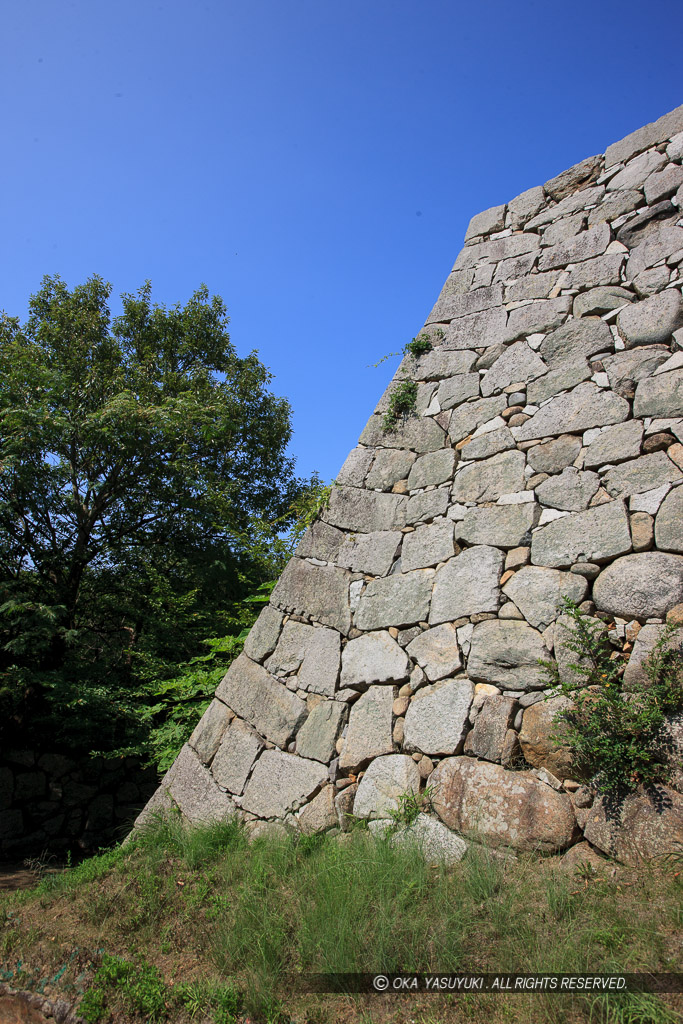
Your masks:
M442 849L463 848L449 829L625 857L683 841L677 788L617 825L572 781L541 664L570 672L564 597L632 651L627 681L680 622L682 159L683 106L472 219L431 350L405 355L150 809L343 828L426 784ZM415 412L387 431L404 380Z

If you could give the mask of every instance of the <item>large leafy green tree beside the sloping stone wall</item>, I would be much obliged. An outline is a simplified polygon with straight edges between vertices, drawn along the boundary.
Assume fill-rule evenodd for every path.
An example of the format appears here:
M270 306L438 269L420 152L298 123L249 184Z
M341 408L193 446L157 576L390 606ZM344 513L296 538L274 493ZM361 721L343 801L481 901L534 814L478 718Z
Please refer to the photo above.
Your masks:
M220 298L147 283L113 318L110 295L45 278L0 318L0 722L99 749L135 733L140 682L248 624L278 557L253 524L310 486Z

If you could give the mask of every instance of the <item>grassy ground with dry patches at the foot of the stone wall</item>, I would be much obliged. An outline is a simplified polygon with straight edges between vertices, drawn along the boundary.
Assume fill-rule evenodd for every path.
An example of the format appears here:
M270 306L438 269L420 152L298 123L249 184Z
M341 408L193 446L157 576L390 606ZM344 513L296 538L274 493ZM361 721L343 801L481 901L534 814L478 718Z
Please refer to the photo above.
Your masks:
M0 980L88 1024L673 1024L679 996L321 995L316 973L680 971L679 865L572 874L472 845L430 867L358 829L260 840L159 821L0 898ZM677 1004L676 1000L679 999Z

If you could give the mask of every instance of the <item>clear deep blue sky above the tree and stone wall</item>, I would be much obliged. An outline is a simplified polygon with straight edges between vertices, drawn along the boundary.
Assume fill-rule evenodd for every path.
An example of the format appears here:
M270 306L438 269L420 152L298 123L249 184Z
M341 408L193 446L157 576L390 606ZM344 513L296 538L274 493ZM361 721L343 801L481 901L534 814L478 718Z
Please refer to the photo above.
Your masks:
M0 308L205 282L333 477L469 218L683 102L681 0L7 0Z

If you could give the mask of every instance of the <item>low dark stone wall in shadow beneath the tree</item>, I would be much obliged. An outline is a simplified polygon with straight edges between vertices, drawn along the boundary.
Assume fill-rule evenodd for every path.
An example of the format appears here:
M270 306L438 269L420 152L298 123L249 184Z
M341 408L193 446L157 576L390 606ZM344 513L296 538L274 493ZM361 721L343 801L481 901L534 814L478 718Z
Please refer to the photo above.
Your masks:
M90 853L125 836L157 773L134 758L5 750L0 760L0 858Z

